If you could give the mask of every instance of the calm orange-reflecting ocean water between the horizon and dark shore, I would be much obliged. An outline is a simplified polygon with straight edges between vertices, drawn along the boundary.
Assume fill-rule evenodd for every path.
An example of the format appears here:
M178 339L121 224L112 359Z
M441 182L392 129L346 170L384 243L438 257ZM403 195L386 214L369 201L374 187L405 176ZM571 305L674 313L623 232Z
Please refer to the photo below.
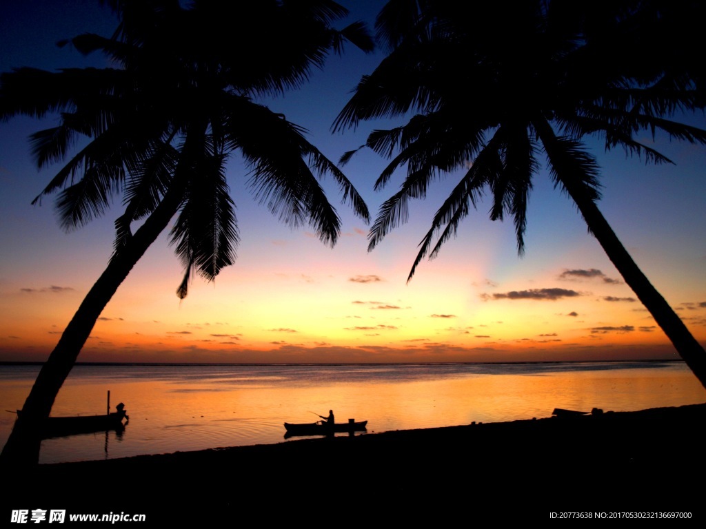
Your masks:
M39 371L0 366L0 444ZM42 442L40 462L284 441L283 422L368 420L368 432L549 417L554 408L633 411L706 402L681 362L405 365L78 365L52 415L124 402L122 434Z

